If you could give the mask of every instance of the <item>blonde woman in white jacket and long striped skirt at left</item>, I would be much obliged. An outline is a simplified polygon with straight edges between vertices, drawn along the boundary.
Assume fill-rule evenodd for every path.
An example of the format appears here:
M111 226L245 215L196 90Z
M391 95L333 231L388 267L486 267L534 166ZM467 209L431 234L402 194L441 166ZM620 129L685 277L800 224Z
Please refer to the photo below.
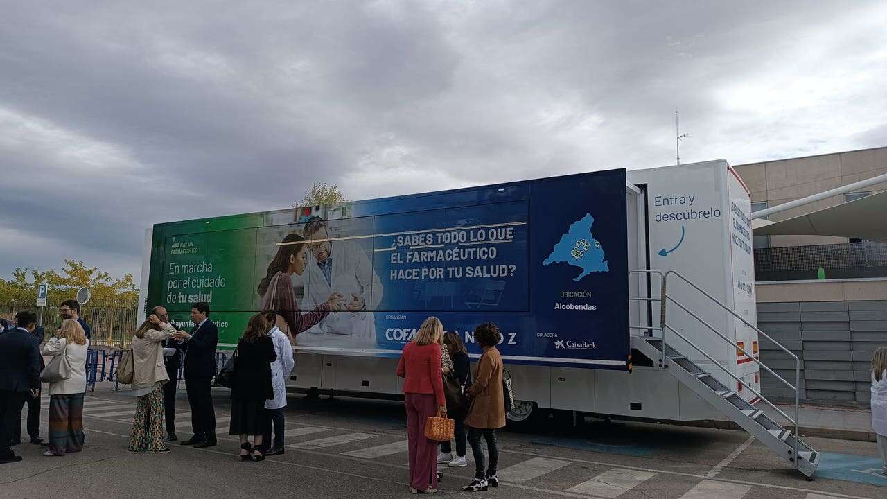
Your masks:
M90 340L74 319L62 321L46 345L43 355L64 355L71 365L71 377L50 384L50 448L43 455L65 455L83 449L83 393L86 392L86 352Z

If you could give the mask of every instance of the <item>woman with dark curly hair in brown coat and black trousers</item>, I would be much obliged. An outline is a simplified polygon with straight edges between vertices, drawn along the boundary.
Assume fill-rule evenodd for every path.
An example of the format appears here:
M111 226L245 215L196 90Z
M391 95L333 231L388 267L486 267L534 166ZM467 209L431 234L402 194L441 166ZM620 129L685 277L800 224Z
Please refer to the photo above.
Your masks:
M505 401L502 398L502 356L496 348L502 336L496 324L484 322L475 328L475 341L483 348L481 359L477 361L475 383L467 389L471 408L465 424L468 429L468 444L475 455L475 479L462 487L466 492L486 490L488 486L498 487L496 465L498 464L498 444L496 430L505 426ZM487 440L490 452L490 465L484 470L481 437Z

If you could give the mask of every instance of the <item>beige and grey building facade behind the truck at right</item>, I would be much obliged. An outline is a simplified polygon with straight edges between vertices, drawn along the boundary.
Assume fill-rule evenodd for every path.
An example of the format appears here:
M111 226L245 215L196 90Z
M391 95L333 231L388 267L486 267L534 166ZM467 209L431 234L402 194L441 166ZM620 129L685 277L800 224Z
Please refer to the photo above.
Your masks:
M734 166L752 211L887 173L887 147ZM774 214L780 221L887 190L887 183ZM867 406L869 360L887 345L887 244L846 237L755 237L757 320L802 361L801 399ZM762 338L761 359L792 381L794 360ZM762 373L767 397L794 393Z

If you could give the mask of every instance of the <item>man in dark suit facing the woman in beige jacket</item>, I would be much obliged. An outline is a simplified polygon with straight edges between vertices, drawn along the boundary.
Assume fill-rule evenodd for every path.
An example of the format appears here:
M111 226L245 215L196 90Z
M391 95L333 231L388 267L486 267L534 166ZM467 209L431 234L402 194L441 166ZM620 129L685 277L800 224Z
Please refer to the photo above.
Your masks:
M191 307L191 333L178 331L176 338L184 340L184 389L191 405L191 425L194 436L182 442L195 448L216 445L216 410L213 408L212 379L216 376L216 345L219 330L209 320L209 305L203 302Z

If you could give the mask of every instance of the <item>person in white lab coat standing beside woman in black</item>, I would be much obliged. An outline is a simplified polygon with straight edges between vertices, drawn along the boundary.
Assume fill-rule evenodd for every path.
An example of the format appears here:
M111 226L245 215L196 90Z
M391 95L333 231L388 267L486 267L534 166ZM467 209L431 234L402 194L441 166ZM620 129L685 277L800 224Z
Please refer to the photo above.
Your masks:
M295 365L293 345L289 342L287 334L275 326L278 314L269 311L265 312L264 316L271 326L268 335L274 343L274 352L278 357L271 362L271 387L274 389L274 398L265 400L265 432L262 441L266 448L264 455L280 455L284 452L283 408L287 407L287 379ZM273 445L271 445L271 424L274 426Z

